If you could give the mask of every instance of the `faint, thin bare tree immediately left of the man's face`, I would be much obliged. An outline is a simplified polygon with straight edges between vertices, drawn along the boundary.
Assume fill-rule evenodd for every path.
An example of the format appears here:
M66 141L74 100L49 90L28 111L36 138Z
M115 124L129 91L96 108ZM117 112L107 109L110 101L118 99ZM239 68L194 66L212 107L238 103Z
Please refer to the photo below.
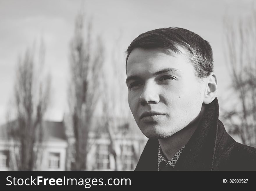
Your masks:
M128 106L128 94L125 84L125 58L124 52L120 51L121 35L115 40L114 47L109 53L110 60L105 65L103 74L103 111L105 130L109 138L109 152L115 161L114 170L124 170L125 151L123 151L124 142L131 139L131 127L129 126L130 112ZM119 140L121 145L116 141ZM121 152L116 149L120 146ZM131 145L133 148L133 144ZM133 150L134 151L134 150ZM137 154L134 152L135 160ZM138 160L137 160L138 162Z

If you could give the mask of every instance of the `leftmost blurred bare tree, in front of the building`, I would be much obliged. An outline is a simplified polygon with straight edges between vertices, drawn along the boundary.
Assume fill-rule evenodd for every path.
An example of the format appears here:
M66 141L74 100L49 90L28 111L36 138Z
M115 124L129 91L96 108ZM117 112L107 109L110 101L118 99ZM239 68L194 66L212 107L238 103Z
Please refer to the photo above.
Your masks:
M41 41L38 61L35 52L29 49L18 61L14 88L15 120L7 119L8 137L14 148L13 169L37 169L43 141L42 119L50 96L50 76L45 76L44 58L45 46Z

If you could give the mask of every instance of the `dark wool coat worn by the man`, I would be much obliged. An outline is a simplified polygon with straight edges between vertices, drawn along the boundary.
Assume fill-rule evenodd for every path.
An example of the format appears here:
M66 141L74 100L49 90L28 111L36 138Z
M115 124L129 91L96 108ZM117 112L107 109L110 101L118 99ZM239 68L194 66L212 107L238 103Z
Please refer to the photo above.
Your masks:
M173 170L256 170L256 148L236 142L218 117L215 98L208 104ZM158 147L157 139L149 139L135 170L158 170Z

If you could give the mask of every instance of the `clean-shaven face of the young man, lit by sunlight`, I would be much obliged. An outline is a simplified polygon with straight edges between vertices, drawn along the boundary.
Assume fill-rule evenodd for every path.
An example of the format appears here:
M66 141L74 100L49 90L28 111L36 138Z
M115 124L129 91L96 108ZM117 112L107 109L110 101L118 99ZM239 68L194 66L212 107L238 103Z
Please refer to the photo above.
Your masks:
M129 107L148 138L167 138L200 113L205 85L179 49L136 48L127 60Z

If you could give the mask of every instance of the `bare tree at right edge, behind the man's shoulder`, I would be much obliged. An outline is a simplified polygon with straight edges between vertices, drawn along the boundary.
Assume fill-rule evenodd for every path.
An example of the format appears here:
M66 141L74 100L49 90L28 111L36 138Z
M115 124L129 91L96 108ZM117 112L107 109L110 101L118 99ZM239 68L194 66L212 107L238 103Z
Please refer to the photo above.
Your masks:
M226 56L237 95L234 110L223 115L231 131L238 133L243 144L256 145L256 10L239 21L226 18Z

